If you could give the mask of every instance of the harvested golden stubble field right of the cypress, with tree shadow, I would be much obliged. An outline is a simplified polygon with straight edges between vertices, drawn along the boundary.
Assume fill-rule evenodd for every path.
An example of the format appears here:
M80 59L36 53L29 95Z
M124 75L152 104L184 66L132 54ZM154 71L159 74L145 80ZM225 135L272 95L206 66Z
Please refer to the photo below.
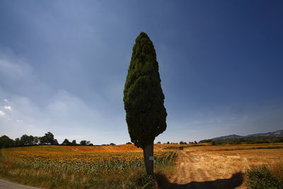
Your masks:
M272 170L282 170L281 147L282 144L187 147L179 151L175 171L166 176L167 185L171 188L247 188L244 174L248 168L266 165Z

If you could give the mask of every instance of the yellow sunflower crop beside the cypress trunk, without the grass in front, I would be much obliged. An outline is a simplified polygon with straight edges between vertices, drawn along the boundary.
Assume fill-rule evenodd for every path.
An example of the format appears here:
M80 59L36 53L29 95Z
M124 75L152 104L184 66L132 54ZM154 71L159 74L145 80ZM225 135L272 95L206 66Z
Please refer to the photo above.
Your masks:
M143 154L133 145L120 145L114 148L21 147L6 149L3 154L5 159L16 164L53 171L96 174L98 171L124 171L144 167ZM167 161L173 161L176 156L175 151L156 151L154 161L156 164L165 164Z

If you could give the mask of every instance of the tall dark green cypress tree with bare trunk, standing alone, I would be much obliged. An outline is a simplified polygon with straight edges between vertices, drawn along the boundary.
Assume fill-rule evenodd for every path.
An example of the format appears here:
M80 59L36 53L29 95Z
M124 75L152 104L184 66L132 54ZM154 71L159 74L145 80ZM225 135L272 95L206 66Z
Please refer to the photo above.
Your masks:
M146 172L154 173L154 139L166 130L166 108L154 45L141 32L132 49L124 89L129 136L144 151Z

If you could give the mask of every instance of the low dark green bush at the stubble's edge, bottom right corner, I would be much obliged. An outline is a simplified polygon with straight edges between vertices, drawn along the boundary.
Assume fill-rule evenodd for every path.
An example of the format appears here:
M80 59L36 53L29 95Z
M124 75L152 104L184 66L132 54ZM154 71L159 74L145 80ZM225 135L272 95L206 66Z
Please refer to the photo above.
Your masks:
M283 188L283 178L275 177L265 166L248 169L247 176L248 188Z

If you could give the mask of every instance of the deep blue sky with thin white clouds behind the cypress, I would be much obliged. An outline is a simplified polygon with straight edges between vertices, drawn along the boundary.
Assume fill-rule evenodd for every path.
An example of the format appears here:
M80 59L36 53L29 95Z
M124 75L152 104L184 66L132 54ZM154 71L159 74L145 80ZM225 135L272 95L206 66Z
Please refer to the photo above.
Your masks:
M0 1L0 135L129 142L134 40L154 42L161 142L283 129L282 1Z

